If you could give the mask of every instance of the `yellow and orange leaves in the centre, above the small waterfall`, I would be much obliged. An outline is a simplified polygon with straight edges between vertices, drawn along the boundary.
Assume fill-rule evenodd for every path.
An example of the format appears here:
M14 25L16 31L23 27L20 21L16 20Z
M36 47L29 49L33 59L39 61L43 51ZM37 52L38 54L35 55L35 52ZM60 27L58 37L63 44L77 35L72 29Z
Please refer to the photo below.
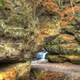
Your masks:
M35 42L37 42L37 44L40 45L43 43L46 37L54 36L56 34L58 34L57 27L55 29L55 25L53 24L51 25L50 23L47 23L41 26L41 28L39 29L37 36L35 38Z

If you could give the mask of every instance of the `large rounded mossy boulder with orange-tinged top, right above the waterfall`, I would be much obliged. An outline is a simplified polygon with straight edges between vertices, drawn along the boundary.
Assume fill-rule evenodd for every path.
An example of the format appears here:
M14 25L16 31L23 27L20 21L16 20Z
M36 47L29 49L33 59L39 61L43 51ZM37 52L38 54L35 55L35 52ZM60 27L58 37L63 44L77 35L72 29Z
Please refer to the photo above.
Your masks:
M45 48L55 54L79 54L79 46L74 36L64 33L46 43Z

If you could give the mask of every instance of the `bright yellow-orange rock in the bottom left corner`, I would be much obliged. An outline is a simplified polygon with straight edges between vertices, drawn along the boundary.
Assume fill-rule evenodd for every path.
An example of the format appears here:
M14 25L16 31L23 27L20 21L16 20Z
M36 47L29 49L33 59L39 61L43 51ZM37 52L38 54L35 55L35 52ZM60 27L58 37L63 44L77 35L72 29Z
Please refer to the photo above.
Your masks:
M30 63L16 63L0 69L0 80L28 80Z

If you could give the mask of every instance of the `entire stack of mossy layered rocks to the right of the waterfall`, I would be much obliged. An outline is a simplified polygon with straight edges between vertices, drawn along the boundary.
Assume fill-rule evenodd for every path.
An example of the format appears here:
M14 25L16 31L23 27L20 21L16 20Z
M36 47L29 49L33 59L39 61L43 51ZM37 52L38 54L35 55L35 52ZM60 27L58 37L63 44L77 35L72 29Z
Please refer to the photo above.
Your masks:
M77 22L76 22L77 23ZM49 52L50 62L65 62L80 64L80 29L75 26L66 26L60 29L60 34L46 38L44 48Z

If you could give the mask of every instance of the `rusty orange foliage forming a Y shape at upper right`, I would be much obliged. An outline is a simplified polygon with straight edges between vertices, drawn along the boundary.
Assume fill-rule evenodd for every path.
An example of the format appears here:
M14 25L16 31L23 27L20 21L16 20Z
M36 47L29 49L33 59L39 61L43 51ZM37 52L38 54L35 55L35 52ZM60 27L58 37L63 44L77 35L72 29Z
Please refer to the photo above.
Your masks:
M75 18L73 15L70 16L70 14L74 14L80 11L80 6L76 5L72 7L66 7L64 10L61 10L53 0L43 0L42 5L43 7L47 8L47 10L56 12L57 14L59 14L59 16L61 16L61 26L68 25L69 22Z

